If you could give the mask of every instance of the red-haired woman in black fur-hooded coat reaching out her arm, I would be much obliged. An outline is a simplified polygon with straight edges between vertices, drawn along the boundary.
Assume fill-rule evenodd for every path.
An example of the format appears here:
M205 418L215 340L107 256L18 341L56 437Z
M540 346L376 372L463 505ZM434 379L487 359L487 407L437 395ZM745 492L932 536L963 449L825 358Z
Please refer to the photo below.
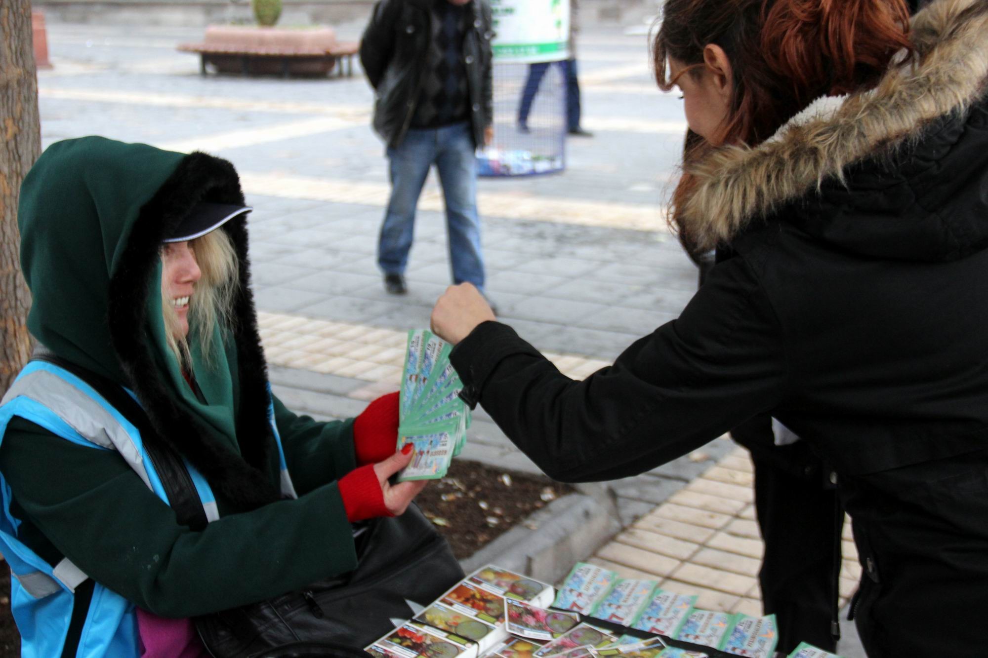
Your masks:
M667 0L691 140L671 221L723 257L583 381L469 286L434 330L547 474L615 479L769 414L832 466L872 658L984 653L988 2Z

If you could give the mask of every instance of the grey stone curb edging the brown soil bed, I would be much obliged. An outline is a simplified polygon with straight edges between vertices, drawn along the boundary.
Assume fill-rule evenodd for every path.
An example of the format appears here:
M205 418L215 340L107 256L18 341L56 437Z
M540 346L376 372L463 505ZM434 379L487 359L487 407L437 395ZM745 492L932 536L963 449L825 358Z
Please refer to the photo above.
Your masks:
M576 562L592 555L620 531L616 515L608 508L594 496L564 496L460 560L460 566L469 573L485 564L496 564L546 583L558 583Z

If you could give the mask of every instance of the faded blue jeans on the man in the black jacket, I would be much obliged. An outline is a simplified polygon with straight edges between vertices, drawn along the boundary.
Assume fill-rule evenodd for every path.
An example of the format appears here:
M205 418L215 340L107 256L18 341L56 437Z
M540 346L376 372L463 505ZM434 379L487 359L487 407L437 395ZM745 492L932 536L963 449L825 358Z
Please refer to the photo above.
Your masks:
M412 247L415 207L433 163L446 200L453 283L484 289L477 215L477 159L470 123L411 128L401 145L388 148L391 199L380 227L377 264L384 274L404 274Z

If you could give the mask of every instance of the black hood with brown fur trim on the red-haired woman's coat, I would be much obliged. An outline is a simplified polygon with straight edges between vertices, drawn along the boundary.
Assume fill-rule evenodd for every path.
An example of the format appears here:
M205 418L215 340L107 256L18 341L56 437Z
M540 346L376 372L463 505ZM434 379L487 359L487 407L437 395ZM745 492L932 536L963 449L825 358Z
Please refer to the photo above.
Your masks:
M988 171L950 181L975 191L957 211L947 207L956 195L930 185L936 170L958 168L958 145L988 149L980 127L988 1L936 0L912 28L915 61L889 70L874 89L824 99L758 147L719 148L691 164L697 185L680 208L685 241L699 251L726 246L755 220L812 206L796 220L844 249L944 260L988 246L988 193L977 192L988 190ZM867 196L870 214L860 205L845 211L857 193ZM876 225L882 214L896 223Z

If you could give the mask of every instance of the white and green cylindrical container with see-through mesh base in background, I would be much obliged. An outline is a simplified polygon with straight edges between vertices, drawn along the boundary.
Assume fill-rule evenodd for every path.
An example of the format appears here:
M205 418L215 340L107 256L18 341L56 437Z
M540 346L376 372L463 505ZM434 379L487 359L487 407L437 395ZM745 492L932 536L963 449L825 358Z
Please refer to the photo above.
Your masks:
M565 168L562 62L569 0L489 0L494 17L494 141L478 152L481 176Z

